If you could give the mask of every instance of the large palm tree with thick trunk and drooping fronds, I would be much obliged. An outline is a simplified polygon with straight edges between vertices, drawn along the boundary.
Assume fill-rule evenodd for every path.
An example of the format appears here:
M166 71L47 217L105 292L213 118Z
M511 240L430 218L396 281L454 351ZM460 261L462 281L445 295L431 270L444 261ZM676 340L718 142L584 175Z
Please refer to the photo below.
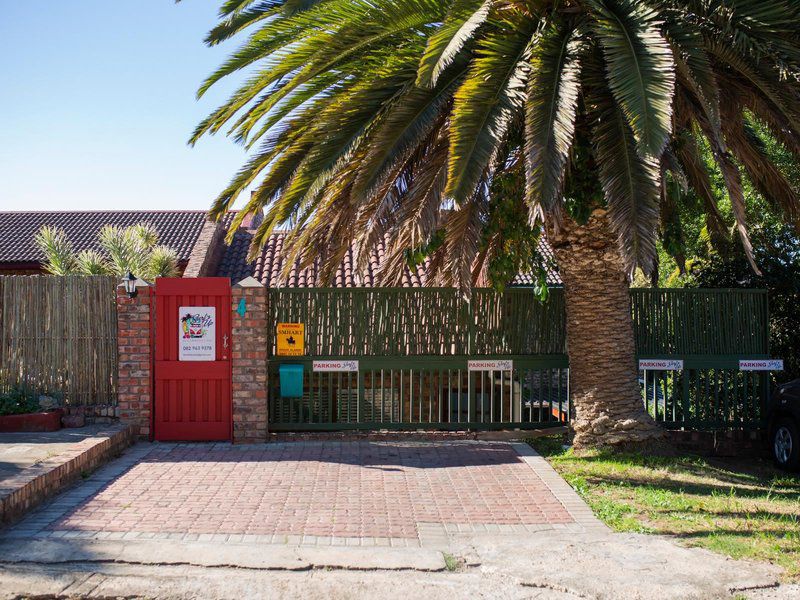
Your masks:
M434 281L469 288L502 252L498 182L521 182L564 279L576 446L650 443L629 277L654 268L681 202L724 230L710 147L751 257L742 172L797 223L800 203L749 126L800 155L796 0L227 0L207 43L243 43L199 90L244 83L191 142L225 131L252 151L219 218L266 209L330 277L355 243L390 265L423 250ZM511 186L513 189L514 186ZM236 220L234 220L235 230ZM487 231L494 231L487 236ZM672 244L674 245L674 244ZM398 269L383 274L391 284Z

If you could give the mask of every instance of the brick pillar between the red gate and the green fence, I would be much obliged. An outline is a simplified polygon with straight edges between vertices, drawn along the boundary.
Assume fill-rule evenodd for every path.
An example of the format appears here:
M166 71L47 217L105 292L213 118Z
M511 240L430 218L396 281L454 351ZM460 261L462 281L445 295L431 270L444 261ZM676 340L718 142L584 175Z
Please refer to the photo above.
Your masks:
M248 277L233 286L231 299L233 442L266 442L267 290Z

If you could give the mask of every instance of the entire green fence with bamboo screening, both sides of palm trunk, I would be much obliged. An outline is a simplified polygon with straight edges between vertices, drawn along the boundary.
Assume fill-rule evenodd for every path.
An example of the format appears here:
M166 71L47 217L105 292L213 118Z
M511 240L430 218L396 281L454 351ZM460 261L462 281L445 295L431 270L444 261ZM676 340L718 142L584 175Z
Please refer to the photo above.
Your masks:
M270 427L318 429L543 428L570 417L563 290L274 289L270 334L302 322L306 353L270 360ZM641 373L647 410L671 428L753 428L768 376L738 371L767 358L767 295L753 290L632 290L640 358L679 358L682 371ZM271 354L274 340L270 335ZM359 361L323 373L314 360ZM469 371L470 359L512 369ZM302 398L282 398L282 362L304 369Z

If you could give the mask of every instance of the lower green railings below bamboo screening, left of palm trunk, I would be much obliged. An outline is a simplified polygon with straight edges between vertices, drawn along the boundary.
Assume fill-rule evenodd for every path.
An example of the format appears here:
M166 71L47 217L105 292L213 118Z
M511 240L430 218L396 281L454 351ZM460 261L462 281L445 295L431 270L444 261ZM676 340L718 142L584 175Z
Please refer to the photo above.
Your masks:
M461 358L360 358L358 372L304 370L302 398L282 398L271 367L270 428L538 429L569 420L566 357L516 357L514 368L469 371Z

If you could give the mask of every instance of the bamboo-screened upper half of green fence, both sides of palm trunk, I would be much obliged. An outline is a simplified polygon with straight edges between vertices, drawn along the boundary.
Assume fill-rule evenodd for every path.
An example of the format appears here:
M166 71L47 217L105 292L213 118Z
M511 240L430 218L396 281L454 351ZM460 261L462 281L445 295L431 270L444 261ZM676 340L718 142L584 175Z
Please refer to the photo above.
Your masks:
M306 326L306 356L566 354L564 290L539 302L529 288L277 288L269 291L269 348L280 322ZM633 289L640 356L766 355L765 290Z

